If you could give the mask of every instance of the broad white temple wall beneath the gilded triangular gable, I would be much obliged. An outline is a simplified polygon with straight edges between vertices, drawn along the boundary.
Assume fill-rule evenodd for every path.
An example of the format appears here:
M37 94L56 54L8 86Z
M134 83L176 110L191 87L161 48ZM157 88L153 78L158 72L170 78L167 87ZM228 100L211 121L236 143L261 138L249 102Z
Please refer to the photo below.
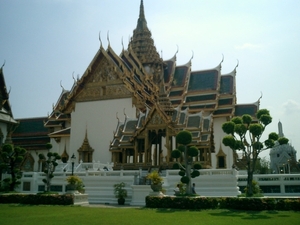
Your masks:
M76 103L71 114L69 155L74 153L79 159L77 150L81 147L87 131L89 144L94 149L93 160L111 162L109 144L118 123L116 115L118 114L120 121L124 121L124 112L127 117L136 118L136 108L131 98Z

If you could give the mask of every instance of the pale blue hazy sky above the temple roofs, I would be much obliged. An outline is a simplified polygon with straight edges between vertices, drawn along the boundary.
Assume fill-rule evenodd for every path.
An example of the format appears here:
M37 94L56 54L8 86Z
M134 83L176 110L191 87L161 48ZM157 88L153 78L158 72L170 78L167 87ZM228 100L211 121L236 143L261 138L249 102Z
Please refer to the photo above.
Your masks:
M0 0L0 64L14 117L47 116L72 74L81 76L107 36L117 54L136 27L140 0ZM164 59L192 55L193 70L237 68L238 103L261 99L300 149L300 1L144 0ZM299 158L299 156L298 156Z

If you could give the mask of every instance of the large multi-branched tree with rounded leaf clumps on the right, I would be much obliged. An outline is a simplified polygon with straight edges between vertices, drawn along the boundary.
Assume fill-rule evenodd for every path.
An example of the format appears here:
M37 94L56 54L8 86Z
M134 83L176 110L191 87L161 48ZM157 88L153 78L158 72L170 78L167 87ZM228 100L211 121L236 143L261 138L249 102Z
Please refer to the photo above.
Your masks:
M272 117L269 110L261 109L257 111L256 118L257 120L252 121L252 117L245 114L242 117L233 117L231 121L222 125L223 131L227 134L222 140L223 144L233 151L243 152L248 174L246 196L249 197L253 195L253 173L259 153L272 148L275 141L278 141L280 145L289 141L284 137L279 138L277 133L272 132L268 139L262 142L260 139L266 126L272 122Z

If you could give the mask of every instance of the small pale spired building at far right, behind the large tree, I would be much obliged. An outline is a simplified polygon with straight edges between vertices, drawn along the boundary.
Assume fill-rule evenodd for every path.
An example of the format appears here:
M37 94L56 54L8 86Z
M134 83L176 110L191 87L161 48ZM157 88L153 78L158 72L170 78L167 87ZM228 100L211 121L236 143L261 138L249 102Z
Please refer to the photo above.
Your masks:
M284 137L282 123L278 122L278 135ZM289 143L276 145L270 150L270 169L273 173L300 173L297 151Z

